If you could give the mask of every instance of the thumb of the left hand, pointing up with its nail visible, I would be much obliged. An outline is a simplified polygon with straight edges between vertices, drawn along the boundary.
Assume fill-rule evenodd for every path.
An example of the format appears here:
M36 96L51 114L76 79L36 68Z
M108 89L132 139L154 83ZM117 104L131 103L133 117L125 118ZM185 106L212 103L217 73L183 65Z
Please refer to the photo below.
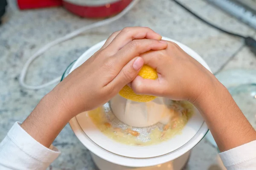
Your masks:
M108 85L115 87L115 91L119 92L125 85L134 80L143 65L143 59L141 57L135 57L122 68L119 74Z

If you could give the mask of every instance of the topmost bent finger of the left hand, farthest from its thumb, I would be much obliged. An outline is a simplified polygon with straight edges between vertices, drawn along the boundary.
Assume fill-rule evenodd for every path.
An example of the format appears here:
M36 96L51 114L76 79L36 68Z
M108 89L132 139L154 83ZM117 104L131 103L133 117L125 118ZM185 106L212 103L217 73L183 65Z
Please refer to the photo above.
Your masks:
M135 39L154 39L154 40L161 40L162 37L160 34L157 34L150 28L146 27L126 27L120 31L118 35L113 39L113 41L109 44L109 47L114 52L119 51L122 47L124 47L126 44L131 42Z

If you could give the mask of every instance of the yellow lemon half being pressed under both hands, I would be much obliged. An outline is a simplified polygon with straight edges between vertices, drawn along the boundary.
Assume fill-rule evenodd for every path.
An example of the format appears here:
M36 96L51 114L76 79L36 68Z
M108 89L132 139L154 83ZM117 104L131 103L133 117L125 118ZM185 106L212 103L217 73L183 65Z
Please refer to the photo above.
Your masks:
M143 65L138 75L143 79L157 79L158 77L157 71L148 65ZM134 102L149 102L156 98L156 96L136 94L128 85L125 85L125 87L119 91L119 95Z

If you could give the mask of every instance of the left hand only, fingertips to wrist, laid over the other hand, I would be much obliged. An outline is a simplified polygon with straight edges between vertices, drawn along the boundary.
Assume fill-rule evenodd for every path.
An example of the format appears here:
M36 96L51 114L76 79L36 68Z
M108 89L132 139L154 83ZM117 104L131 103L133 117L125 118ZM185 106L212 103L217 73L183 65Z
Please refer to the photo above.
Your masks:
M161 36L149 28L124 28L113 33L105 45L56 88L72 116L108 102L140 71L140 54L167 47Z

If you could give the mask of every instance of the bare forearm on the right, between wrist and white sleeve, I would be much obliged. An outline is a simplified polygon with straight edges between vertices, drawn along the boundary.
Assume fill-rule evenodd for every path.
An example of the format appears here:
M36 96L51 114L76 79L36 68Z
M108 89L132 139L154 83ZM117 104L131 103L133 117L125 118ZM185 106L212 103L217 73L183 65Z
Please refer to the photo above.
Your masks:
M217 80L195 103L207 122L220 151L256 140L256 131L230 93Z

